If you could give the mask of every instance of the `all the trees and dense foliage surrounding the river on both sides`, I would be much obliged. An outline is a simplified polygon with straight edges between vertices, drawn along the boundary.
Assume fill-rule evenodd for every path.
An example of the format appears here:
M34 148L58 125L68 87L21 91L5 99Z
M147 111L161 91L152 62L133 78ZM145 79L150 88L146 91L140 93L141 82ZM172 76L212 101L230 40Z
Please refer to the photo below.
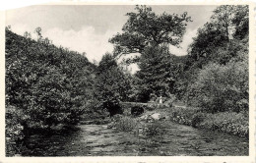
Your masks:
M190 22L186 12L135 10L127 14L123 33L110 38L113 54L103 55L97 66L85 55L54 46L40 27L37 40L6 28L7 155L24 150L23 140L32 131L76 125L81 116L101 121L123 113L122 102L159 102L160 96L160 106L171 108L175 122L248 136L248 6L217 7L186 56L175 56L168 47L182 41ZM131 75L117 56L134 52L140 55L128 63L136 62L140 70ZM198 108L172 107L176 98ZM158 108L155 104L144 111ZM136 124L123 117L116 128L131 131ZM157 127L149 129L155 134Z

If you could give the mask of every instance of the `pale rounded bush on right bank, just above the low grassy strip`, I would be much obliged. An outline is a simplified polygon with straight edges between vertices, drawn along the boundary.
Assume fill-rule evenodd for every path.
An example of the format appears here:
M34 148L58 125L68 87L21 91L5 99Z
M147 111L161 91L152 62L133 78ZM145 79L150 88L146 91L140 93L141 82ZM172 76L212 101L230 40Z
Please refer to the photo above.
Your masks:
M248 64L229 62L226 66L209 64L189 90L189 104L211 113L248 110Z

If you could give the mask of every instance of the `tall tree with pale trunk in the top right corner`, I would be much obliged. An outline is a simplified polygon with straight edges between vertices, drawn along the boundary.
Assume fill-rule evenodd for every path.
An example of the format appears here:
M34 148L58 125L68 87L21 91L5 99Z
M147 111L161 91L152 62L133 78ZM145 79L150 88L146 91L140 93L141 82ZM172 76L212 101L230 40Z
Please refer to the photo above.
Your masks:
M199 60L202 57L218 58L216 49L228 52L234 39L248 35L248 6L223 5L214 10L211 21L198 29L197 36L188 49L189 55ZM233 39L234 38L234 39ZM232 57L230 55L229 59Z

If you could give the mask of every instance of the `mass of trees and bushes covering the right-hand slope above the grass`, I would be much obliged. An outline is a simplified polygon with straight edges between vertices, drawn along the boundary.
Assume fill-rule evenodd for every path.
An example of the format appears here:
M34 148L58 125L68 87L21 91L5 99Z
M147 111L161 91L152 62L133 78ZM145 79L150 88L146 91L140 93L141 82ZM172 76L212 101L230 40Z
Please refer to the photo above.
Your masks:
M218 7L199 28L187 60L175 83L180 99L213 113L248 111L248 6Z

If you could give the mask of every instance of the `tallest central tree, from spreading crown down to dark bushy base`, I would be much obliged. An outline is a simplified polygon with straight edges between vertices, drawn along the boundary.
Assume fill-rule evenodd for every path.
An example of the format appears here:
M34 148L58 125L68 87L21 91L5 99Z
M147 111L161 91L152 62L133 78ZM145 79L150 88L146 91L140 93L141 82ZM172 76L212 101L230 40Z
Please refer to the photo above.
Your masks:
M187 13L181 15L162 13L157 15L151 7L135 7L135 12L127 13L128 20L109 41L114 44L114 54L140 53L139 57L128 59L138 63L136 74L137 100L148 101L150 94L166 94L174 81L174 63L168 45L179 46L187 23L191 21Z

